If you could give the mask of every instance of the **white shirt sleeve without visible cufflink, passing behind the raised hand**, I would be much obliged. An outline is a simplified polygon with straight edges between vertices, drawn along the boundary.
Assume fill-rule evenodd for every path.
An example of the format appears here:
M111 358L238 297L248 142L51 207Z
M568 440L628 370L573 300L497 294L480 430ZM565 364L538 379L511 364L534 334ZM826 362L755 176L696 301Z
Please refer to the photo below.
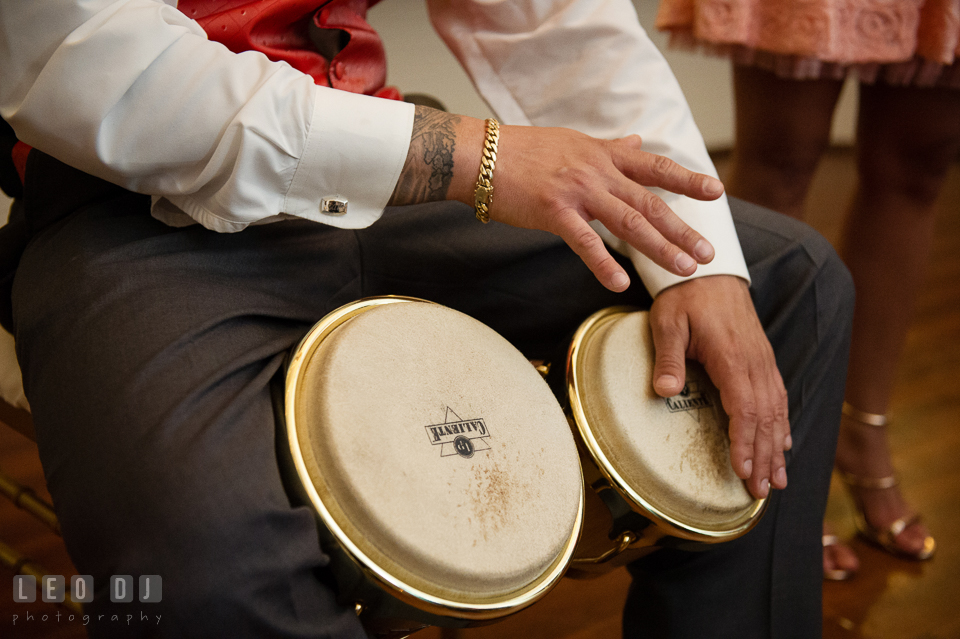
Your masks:
M629 0L428 0L433 25L506 124L562 126L599 138L630 134L643 148L716 176L666 60ZM691 277L750 281L726 196L713 202L652 189L702 233L716 257ZM599 223L651 294L684 281Z

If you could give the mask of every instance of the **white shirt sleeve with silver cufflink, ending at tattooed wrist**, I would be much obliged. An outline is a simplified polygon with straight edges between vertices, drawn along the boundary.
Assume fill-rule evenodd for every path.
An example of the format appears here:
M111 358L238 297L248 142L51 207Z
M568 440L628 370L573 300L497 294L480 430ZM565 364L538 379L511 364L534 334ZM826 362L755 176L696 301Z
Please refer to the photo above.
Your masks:
M27 144L152 195L171 224L378 219L414 107L234 54L174 4L0 1L0 114ZM325 198L346 212L323 213Z

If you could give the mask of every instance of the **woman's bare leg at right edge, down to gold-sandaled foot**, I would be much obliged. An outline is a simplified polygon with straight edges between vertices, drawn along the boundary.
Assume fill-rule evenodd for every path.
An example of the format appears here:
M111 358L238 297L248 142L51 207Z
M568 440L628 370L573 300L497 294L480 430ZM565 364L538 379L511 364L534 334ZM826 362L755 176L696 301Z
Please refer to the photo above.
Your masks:
M927 263L933 205L960 151L960 91L862 86L857 138L860 182L842 249L857 289L846 399L884 414ZM837 466L859 477L892 475L884 429L845 416ZM910 514L897 488L854 490L874 527ZM927 534L914 524L896 543L915 554Z

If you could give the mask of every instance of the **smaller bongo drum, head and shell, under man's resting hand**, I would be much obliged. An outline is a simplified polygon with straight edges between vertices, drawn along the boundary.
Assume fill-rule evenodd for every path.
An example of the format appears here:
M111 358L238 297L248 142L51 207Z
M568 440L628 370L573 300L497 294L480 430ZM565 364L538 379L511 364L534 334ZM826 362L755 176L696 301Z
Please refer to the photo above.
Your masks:
M719 391L687 361L683 391L653 390L648 314L590 316L567 356L568 415L587 485L570 575L589 577L660 547L704 549L750 530L766 507L730 463Z

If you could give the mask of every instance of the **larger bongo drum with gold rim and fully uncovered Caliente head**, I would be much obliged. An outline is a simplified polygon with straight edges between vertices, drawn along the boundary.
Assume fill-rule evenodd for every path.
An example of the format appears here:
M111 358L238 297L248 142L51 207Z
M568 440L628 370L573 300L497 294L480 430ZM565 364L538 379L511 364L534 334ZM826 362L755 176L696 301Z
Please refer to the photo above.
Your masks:
M576 445L484 324L412 298L344 306L293 353L278 408L288 489L373 636L489 623L563 575L583 516Z

